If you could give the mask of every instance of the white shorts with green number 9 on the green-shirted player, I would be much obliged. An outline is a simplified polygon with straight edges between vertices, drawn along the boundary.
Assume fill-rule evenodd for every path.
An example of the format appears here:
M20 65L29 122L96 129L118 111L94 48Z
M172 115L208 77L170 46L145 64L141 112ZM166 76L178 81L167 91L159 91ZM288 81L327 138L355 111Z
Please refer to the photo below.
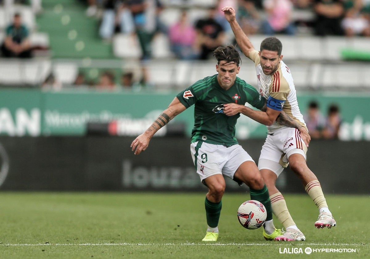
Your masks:
M190 151L196 173L202 182L207 177L216 174L223 174L233 179L236 170L243 162L253 161L240 145L225 147L197 141L191 143Z

